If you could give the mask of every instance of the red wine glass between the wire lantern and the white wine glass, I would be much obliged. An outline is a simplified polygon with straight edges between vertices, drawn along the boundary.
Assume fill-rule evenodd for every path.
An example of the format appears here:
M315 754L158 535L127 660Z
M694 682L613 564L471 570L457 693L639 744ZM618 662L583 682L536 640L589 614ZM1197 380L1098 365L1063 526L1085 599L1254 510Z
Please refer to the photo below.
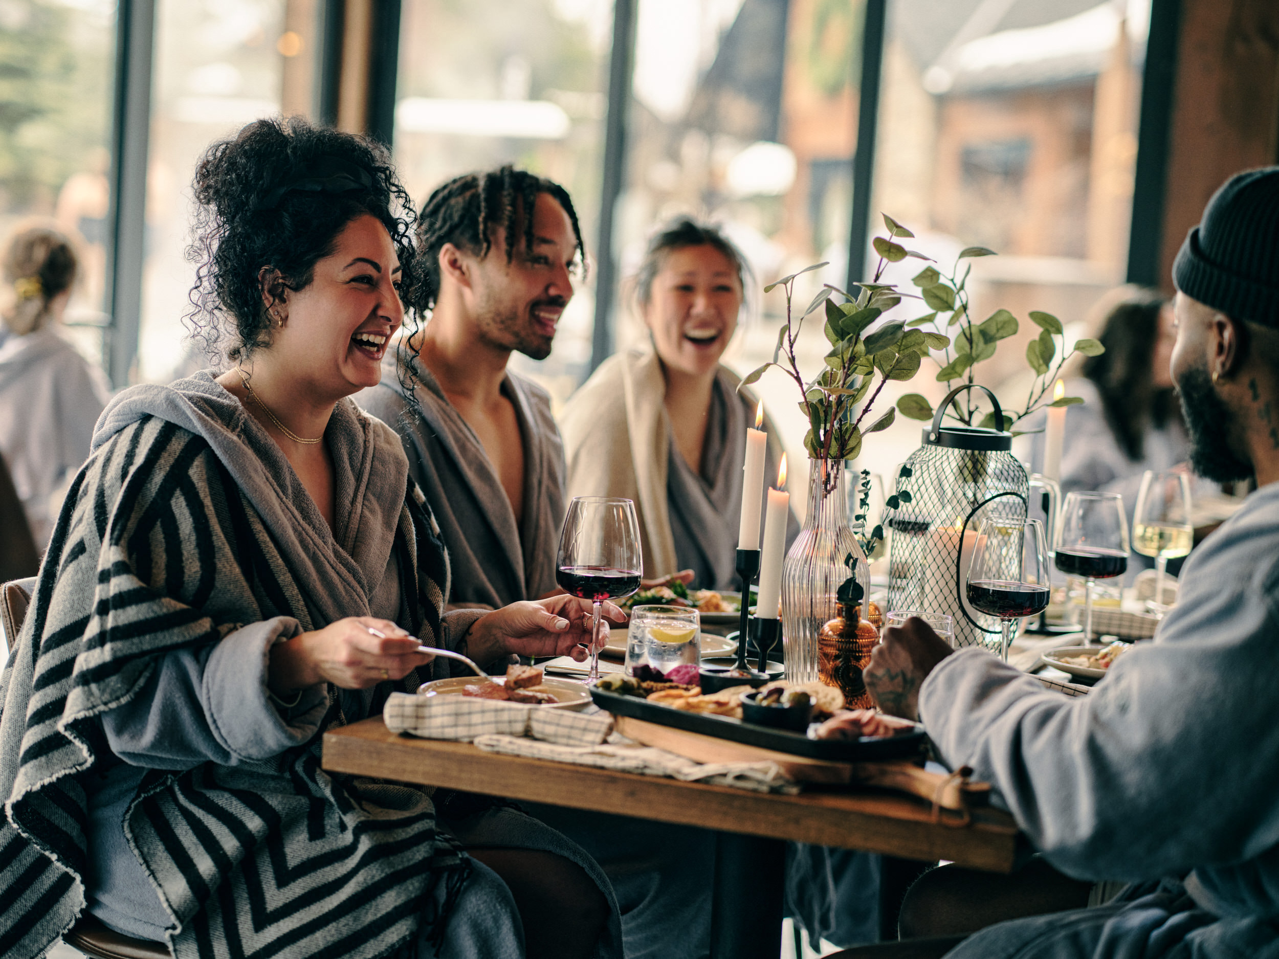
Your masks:
M1092 644L1092 583L1128 572L1128 519L1117 492L1072 492L1062 506L1056 568L1083 577L1083 644Z

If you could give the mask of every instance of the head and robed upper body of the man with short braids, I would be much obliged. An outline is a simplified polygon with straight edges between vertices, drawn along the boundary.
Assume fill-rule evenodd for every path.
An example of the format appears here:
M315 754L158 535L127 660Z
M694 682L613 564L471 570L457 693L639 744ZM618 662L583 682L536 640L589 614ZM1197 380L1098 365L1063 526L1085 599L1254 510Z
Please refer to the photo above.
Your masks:
M449 601L545 596L555 591L564 448L550 398L506 362L514 350L551 352L585 258L573 201L510 166L458 176L422 207L417 247L422 276L409 295L428 321L386 352L381 384L359 403L411 448L449 547Z

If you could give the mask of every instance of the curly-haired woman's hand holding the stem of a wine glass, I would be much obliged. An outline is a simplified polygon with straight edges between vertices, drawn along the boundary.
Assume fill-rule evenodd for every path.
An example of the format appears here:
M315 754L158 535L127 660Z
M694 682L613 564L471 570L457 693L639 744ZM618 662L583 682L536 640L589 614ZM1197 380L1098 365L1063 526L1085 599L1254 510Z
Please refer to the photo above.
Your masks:
M563 593L545 600L513 602L478 619L467 634L466 652L476 662L500 656L572 656L581 662L591 642L591 601ZM627 614L615 604L600 607L600 632L595 647L609 641L609 624L625 623Z

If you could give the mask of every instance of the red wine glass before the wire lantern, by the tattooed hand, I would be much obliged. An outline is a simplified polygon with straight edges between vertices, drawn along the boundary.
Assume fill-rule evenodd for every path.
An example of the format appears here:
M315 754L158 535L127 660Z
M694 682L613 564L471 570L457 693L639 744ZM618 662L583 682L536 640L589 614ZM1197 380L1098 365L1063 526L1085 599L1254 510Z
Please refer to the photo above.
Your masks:
M1008 660L1013 620L1037 616L1051 595L1048 540L1037 519L984 519L968 566L968 602L978 612L999 616L999 656Z

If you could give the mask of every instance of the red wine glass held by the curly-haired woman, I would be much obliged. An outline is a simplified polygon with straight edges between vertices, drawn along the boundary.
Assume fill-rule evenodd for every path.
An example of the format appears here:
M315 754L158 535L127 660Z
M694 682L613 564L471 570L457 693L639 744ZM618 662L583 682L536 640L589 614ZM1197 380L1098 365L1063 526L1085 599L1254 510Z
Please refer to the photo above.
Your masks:
M606 496L574 496L564 517L555 582L569 596L591 600L591 670L586 683L600 678L600 651L595 635L600 632L600 605L605 600L629 596L640 588L640 523L631 500Z

